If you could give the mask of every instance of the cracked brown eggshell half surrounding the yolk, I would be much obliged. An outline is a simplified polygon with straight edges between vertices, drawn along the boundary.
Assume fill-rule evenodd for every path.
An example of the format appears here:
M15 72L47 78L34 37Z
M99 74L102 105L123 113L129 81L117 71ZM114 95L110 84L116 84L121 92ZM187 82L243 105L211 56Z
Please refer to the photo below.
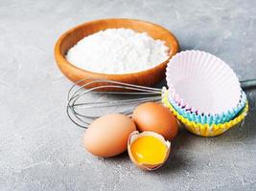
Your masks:
M137 138L141 138L143 136L152 136L154 138L158 138L159 140L161 140L164 143L164 145L166 145L166 148L167 148L166 156L165 156L165 159L161 163L155 163L155 164L139 163L133 158L130 146L131 146L132 142L134 142ZM170 150L171 150L171 142L168 141L168 140L165 140L165 138L163 136L161 136L160 134L154 133L154 132L145 131L145 132L139 133L138 131L134 131L130 134L130 136L128 138L128 156L129 156L129 159L131 159L131 161L138 168L140 168L142 170L152 171L152 170L156 170L159 167L161 167L165 163L165 161L168 159L168 157L170 155Z

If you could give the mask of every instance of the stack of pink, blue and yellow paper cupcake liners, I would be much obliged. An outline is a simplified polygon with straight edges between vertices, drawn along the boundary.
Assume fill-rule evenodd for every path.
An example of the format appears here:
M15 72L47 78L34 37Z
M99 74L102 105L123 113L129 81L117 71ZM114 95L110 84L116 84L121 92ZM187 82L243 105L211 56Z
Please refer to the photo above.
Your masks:
M162 101L191 133L221 135L248 112L234 71L220 58L201 51L176 53L167 67Z

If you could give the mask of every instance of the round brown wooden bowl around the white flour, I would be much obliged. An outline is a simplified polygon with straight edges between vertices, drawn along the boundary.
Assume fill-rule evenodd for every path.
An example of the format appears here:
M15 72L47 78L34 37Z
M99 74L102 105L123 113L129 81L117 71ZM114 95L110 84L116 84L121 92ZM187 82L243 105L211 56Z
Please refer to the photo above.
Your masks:
M160 39L165 41L165 45L170 49L169 58L159 63L157 66L138 73L132 74L99 74L90 71L85 71L69 63L65 54L67 51L77 44L83 37L90 35L95 32L104 31L106 29L116 29L116 28L126 28L131 29L135 32L147 32L154 39ZM178 42L175 35L172 32L164 29L161 26L140 21L134 19L102 19L95 20L88 23L81 24L68 32L63 33L59 38L55 46L55 59L58 63L58 68L62 74L66 75L67 78L73 82L77 82L83 78L88 78L90 81L92 78L96 79L109 79L116 80L120 82L142 85L142 86L152 86L159 82L165 76L165 69L169 59L178 51ZM84 82L83 82L84 83ZM83 84L82 82L79 85ZM92 85L98 86L102 85L95 83ZM108 89L105 89L107 91Z

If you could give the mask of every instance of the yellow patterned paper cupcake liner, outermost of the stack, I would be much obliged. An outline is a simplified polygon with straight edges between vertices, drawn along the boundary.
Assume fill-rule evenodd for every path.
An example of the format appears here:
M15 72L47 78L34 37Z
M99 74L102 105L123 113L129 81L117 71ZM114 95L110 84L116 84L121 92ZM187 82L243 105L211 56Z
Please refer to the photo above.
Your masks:
M201 124L179 115L168 100L168 91L164 92L162 103L172 111L179 122L181 122L189 132L201 137L215 137L221 135L231 127L240 123L248 113L248 101L246 101L244 109L234 119L221 124Z

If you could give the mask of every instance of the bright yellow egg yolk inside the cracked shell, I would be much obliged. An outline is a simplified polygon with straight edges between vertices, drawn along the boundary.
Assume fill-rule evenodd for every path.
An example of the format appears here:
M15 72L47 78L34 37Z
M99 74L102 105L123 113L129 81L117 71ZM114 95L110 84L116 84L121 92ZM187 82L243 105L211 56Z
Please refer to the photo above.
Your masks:
M130 151L138 163L156 164L164 161L167 148L158 138L144 136L132 142Z

